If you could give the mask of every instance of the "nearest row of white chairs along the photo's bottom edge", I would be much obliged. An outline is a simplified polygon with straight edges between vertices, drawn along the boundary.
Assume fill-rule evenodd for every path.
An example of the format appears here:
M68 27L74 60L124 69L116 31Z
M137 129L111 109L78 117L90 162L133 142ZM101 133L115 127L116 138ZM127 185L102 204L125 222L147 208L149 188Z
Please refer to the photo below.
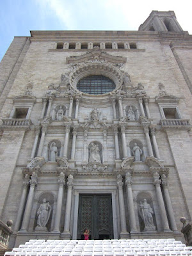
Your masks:
M192 256L188 251L161 252L6 252L4 256Z

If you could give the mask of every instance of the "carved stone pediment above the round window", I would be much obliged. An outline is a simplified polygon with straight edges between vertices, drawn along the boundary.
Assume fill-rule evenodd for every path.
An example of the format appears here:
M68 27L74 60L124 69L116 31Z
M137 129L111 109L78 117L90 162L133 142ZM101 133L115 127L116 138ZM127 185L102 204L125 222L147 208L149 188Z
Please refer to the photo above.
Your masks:
M120 57L120 56L113 56L111 54L108 54L100 49L94 48L90 52L87 52L86 54L83 54L81 56L73 56L70 58L66 58L68 64L73 63L92 63L92 62L102 62L102 63L125 63L127 61L127 58Z

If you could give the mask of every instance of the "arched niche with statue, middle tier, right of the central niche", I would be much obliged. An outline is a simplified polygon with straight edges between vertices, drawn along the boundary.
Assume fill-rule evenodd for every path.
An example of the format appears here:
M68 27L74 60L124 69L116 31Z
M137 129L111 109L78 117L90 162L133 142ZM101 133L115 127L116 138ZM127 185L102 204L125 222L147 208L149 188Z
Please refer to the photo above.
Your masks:
M134 157L134 162L144 162L145 156L143 152L143 144L140 140L131 140L129 142L129 148L131 151L131 156Z

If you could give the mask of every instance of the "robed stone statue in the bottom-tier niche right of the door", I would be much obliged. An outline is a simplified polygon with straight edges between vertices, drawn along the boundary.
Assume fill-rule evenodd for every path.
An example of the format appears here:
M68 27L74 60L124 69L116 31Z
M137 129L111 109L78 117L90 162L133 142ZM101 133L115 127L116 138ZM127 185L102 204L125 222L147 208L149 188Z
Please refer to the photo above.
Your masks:
M145 231L156 230L152 214L154 214L154 211L152 210L150 205L147 204L147 199L144 199L143 203L140 202L140 216L145 224Z

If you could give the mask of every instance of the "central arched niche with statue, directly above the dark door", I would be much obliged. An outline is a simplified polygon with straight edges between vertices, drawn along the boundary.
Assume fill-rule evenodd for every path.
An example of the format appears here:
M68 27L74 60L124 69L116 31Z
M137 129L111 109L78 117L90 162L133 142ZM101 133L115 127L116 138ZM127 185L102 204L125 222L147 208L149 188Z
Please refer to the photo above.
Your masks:
M102 144L92 141L88 145L88 163L103 163Z

